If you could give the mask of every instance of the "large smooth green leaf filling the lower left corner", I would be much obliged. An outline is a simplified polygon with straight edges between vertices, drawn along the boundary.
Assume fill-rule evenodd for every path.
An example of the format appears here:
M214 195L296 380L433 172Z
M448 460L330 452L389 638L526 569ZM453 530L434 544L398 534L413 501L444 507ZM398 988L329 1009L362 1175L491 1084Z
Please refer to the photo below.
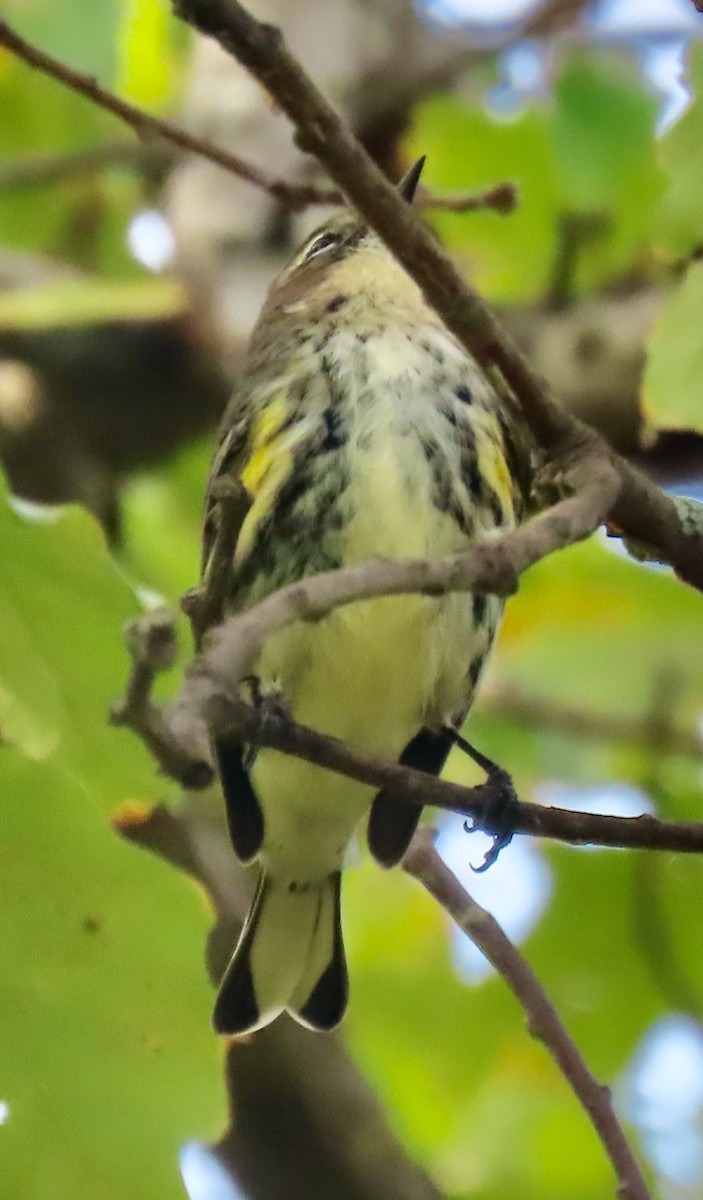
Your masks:
M208 906L103 802L0 748L2 1189L23 1200L86 1181L95 1200L175 1200L180 1146L224 1118Z

